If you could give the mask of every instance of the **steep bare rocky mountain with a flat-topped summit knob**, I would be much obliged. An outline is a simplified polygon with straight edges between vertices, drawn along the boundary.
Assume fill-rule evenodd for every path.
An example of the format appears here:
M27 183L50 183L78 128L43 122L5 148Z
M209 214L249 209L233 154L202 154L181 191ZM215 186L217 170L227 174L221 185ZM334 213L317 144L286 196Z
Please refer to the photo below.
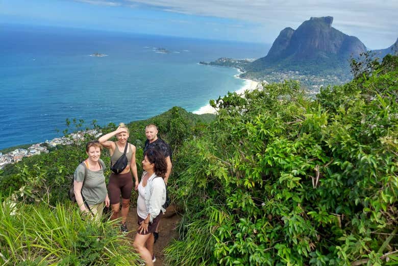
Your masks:
M248 72L264 69L319 69L348 67L350 56L366 52L365 45L354 36L332 27L333 17L311 17L296 30L283 29L275 39L267 56L246 66Z

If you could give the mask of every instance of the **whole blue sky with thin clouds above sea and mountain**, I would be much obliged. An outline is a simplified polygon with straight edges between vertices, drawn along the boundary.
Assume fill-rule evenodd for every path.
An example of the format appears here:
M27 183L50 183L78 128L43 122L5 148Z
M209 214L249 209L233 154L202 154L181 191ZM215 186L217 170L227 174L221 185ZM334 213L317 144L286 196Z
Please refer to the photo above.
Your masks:
M333 16L332 27L368 49L395 42L397 13L396 0L0 0L0 23L263 43L311 16Z

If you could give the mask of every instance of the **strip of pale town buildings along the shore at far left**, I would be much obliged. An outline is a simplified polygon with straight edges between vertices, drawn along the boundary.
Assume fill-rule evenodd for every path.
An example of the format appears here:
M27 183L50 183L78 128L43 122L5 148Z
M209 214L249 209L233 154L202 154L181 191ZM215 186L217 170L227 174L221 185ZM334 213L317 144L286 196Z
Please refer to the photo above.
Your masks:
M44 142L36 143L27 149L15 149L12 152L3 154L0 153L0 169L3 169L5 165L15 163L22 160L23 157L29 157L33 155L39 155L41 153L48 153L47 147L56 147L57 145L69 145L76 141L84 140L85 135L92 135L95 138L101 135L98 130L86 130L72 133L68 136L54 138L52 140L46 140Z

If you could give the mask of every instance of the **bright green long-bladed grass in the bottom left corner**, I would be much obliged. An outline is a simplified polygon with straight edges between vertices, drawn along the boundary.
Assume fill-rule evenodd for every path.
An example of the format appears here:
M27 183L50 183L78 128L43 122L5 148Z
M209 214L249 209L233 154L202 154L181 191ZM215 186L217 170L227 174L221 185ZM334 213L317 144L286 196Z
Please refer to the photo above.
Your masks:
M12 204L0 198L0 265L137 265L114 221L84 220L71 204Z

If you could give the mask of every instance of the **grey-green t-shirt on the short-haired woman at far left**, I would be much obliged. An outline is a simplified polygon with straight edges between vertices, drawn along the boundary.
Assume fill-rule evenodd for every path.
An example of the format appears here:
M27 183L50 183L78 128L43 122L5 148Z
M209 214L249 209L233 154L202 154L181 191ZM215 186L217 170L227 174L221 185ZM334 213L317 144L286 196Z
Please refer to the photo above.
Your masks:
M82 195L88 205L94 205L105 201L107 196L107 187L105 185L105 163L99 159L101 170L91 171L87 168L87 177L82 188ZM85 166L79 164L73 174L73 179L78 182L84 180Z

